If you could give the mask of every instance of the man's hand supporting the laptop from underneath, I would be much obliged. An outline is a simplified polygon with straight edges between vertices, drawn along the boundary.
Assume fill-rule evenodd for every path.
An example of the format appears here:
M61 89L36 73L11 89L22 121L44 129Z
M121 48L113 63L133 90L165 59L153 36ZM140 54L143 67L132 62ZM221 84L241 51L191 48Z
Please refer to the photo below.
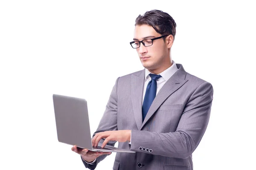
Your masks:
M74 152L78 153L79 155L82 156L82 159L84 159L84 161L87 162L92 162L94 161L94 159L98 158L101 155L105 155L105 154L111 154L111 152L93 152L87 149L81 149L76 147L76 145L74 145L71 150L73 150Z

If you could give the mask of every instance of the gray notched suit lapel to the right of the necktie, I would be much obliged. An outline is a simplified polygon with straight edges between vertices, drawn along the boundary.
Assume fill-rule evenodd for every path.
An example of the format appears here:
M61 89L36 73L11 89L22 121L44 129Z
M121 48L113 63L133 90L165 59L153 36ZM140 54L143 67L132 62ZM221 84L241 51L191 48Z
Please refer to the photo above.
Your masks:
M183 66L181 64L176 64L178 70L175 72L175 74L170 77L169 80L163 85L163 87L158 92L157 96L155 97L154 101L152 102L148 113L144 119L143 124L140 126L139 130L143 128L143 126L148 122L148 120L151 118L151 116L154 115L155 111L162 105L162 103L175 91L177 91L184 83L186 83L188 80L186 80L186 71L184 70ZM145 75L144 75L145 77ZM141 94L142 96L142 94ZM140 99L140 115L142 115L142 98ZM142 117L142 116L141 116ZM141 118L142 121L142 118ZM136 122L137 123L137 122ZM138 126L138 124L137 124Z

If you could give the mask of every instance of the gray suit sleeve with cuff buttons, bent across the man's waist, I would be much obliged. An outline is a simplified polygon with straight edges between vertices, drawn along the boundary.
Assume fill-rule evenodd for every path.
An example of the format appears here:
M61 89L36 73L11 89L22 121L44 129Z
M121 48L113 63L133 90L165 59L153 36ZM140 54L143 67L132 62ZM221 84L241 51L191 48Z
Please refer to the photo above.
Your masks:
M150 154L188 158L198 146L207 128L212 99L212 85L209 82L202 83L186 102L175 132L132 130L131 150L145 153L139 150L139 147L145 147L152 150Z

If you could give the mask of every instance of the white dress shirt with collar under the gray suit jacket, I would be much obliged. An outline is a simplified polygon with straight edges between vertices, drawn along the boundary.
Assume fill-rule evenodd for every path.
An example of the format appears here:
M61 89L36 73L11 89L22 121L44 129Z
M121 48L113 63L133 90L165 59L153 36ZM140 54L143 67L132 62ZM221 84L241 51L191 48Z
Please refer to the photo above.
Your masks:
M178 68L177 68L175 62L172 60L171 67L167 68L165 71L160 73L160 75L162 77L157 79L157 93L160 91L160 89L163 87L163 85L167 82L167 80L169 78L171 78L173 74L175 74L175 72L177 70L178 70ZM148 71L148 69L145 68L145 82L144 82L144 88L143 88L142 105L143 105L146 89L147 89L147 86L148 86L148 82L151 80L151 77L149 76L149 74L151 74L151 72ZM131 144L131 141L128 142L128 143ZM93 164L95 161L96 161L96 159L93 162L89 163L89 164ZM85 162L88 163L87 161L85 161Z

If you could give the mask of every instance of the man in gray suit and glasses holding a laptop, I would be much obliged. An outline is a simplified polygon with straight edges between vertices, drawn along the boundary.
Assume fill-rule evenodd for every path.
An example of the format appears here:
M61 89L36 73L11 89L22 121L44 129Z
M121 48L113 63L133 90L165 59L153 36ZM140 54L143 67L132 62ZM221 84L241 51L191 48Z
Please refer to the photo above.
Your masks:
M192 153L209 121L213 88L171 57L176 23L159 10L139 15L134 41L145 67L116 79L92 143L136 151L116 153L114 170L193 170ZM110 153L72 150L93 170Z

